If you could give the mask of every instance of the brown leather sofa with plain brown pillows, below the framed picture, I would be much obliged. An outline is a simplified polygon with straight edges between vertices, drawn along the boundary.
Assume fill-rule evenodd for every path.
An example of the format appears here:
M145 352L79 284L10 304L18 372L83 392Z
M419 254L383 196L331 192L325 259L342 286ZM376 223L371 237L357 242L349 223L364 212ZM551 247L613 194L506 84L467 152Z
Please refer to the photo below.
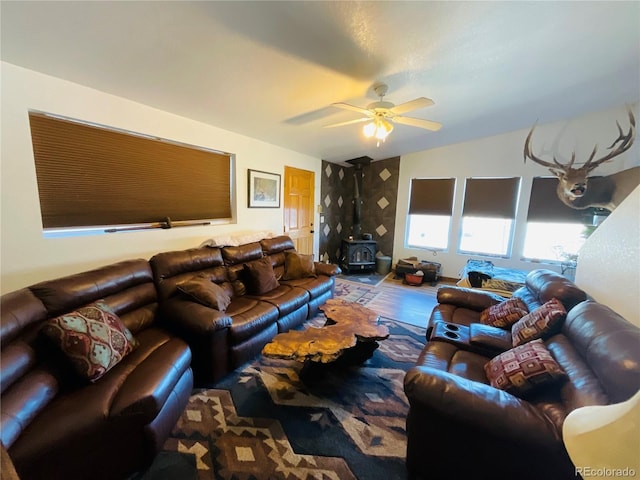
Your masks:
M285 252L295 252L288 236L240 246L200 247L163 252L151 258L161 300L161 316L193 353L195 383L206 386L254 358L276 334L301 325L333 297L340 268L314 262L315 276L284 280ZM251 295L244 265L269 258L279 286ZM178 285L199 274L230 284L231 303L222 312L182 295Z

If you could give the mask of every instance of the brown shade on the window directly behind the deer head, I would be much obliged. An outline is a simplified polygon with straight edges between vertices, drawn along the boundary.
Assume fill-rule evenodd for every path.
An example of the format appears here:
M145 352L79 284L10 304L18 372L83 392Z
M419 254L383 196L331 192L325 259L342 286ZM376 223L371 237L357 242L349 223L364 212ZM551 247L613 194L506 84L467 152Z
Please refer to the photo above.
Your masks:
M528 222L591 223L591 209L576 210L558 198L556 177L534 177L529 199Z

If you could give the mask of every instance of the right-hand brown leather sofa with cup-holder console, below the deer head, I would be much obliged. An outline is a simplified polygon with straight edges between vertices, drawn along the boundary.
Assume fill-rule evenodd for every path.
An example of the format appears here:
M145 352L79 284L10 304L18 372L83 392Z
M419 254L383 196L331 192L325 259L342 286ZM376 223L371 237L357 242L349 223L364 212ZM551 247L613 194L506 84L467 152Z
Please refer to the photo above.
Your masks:
M545 345L568 380L524 400L493 388L473 346L431 339L405 377L407 468L414 479L575 479L562 442L574 409L622 402L640 388L640 329L549 270L535 270L514 293L529 311L559 299L567 317ZM471 325L504 300L486 292L443 287L436 322Z

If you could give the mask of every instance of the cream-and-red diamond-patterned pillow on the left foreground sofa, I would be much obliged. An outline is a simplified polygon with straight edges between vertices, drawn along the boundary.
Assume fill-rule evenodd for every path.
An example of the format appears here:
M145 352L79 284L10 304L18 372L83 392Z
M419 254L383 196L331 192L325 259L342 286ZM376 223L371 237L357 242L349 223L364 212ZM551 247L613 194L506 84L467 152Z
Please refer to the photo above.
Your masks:
M120 318L101 300L52 318L42 331L71 360L76 371L92 382L138 346Z

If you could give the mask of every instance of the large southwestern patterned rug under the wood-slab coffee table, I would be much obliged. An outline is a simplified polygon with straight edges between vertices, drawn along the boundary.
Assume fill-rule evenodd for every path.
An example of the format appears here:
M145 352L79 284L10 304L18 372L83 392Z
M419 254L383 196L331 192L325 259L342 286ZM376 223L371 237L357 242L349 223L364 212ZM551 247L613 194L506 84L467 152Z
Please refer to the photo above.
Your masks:
M194 391L165 451L195 459L200 480L405 478L403 379L425 331L381 323L391 335L361 365L302 372L260 357Z

